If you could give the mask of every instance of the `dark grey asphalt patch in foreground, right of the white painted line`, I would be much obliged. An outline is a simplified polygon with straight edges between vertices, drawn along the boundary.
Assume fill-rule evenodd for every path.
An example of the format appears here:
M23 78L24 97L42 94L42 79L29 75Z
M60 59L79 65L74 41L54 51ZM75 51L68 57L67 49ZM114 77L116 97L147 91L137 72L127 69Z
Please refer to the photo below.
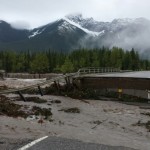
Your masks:
M48 137L28 150L134 150L132 148L84 143L78 140Z

